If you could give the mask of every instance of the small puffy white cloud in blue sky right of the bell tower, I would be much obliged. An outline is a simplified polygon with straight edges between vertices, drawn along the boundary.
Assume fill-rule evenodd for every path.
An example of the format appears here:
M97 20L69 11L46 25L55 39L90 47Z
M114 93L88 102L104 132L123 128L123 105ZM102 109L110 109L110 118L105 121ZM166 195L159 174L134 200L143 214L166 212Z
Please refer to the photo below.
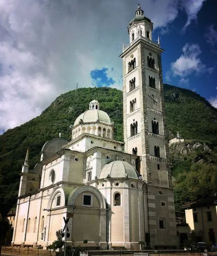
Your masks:
M205 65L202 64L198 57L201 53L198 45L185 44L182 52L183 54L175 62L171 63L173 75L185 78L192 73L199 75L204 72Z

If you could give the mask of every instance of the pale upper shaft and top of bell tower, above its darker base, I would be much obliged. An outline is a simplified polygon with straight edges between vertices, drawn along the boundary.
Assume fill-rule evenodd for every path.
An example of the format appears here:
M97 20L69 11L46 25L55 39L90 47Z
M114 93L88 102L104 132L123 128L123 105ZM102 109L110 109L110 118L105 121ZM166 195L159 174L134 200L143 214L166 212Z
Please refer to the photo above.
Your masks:
M130 44L123 47L123 125L125 152L141 157L140 174L147 183L171 187L167 165L165 114L159 42L153 24L138 6L129 23Z

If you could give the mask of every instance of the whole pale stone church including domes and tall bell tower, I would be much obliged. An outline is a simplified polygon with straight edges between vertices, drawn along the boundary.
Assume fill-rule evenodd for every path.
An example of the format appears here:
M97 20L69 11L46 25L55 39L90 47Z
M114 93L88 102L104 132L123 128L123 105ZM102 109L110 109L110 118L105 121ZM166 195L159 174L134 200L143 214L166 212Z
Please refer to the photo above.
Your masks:
M165 130L161 53L153 24L138 6L128 27L123 70L124 142L93 99L71 128L71 141L47 141L18 191L12 244L43 246L69 218L71 246L139 249L177 246Z

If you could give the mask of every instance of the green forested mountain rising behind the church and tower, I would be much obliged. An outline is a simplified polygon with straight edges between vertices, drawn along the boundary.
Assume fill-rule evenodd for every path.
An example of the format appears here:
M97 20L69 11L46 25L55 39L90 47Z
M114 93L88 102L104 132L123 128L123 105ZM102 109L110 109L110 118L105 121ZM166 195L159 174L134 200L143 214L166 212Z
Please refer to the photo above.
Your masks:
M217 144L217 109L213 108L204 98L198 94L171 85L164 85L164 98L166 105L168 137L173 138L177 131L186 141L184 147L192 146L192 143L200 142L201 146L192 148L189 154L183 154L171 147L171 164L174 176L175 199L177 207L191 199L200 196L198 189L186 194L183 184L189 180L189 173L194 186L197 186L199 165L208 172L215 174L215 145ZM16 201L19 183L19 173L25 157L26 148L30 148L30 168L39 161L39 153L43 144L58 136L69 139L71 137L70 124L83 111L88 109L88 103L96 99L100 103L100 109L107 112L115 124L115 139L122 141L122 91L102 88L79 88L69 91L57 97L40 116L29 122L7 130L0 135L0 208L8 210ZM205 147L203 143L206 143ZM182 150L184 151L184 150ZM185 151L184 151L185 152ZM203 162L194 161L200 154ZM209 156L207 155L209 154ZM207 160L208 159L208 160ZM210 160L211 159L211 160ZM209 161L210 160L210 161ZM182 168L183 166L183 168ZM204 167L205 166L205 167ZM217 165L216 165L217 166ZM209 175L210 176L210 175ZM209 182L209 180L208 180ZM213 184L213 179L210 180ZM217 182L215 182L217 184ZM200 184L200 188L205 184ZM208 192L216 191L213 184ZM190 184L189 184L190 189ZM185 190L185 191L184 191ZM190 195L191 195L190 194ZM194 195L193 195L194 194Z

